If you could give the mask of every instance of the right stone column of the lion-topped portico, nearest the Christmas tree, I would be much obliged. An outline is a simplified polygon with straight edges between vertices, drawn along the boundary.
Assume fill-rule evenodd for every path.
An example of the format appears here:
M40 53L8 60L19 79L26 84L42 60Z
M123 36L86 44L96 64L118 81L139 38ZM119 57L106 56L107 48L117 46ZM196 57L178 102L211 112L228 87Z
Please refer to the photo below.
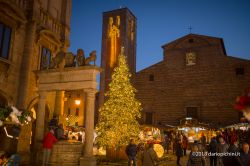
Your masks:
M86 118L85 118L85 146L83 157L80 158L80 166L96 166L93 156L94 139L94 113L95 113L95 89L86 89Z

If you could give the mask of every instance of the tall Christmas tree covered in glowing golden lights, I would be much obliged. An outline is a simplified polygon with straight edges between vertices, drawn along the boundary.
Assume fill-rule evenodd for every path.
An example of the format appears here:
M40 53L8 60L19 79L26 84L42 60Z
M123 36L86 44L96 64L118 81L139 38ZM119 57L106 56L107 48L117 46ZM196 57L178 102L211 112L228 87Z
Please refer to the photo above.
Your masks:
M106 92L106 101L99 109L97 130L101 146L119 147L130 139L138 139L141 103L135 99L136 89L130 83L131 74L124 56L124 48L118 57L118 65L112 73L112 81Z

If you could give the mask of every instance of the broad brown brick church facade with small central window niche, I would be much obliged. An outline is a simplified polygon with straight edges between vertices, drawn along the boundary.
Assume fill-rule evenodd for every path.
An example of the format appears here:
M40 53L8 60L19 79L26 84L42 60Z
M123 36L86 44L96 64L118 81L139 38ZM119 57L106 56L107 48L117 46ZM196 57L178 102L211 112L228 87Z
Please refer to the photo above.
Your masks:
M250 61L228 56L223 39L188 34L162 46L163 61L137 72L143 123L178 125L186 117L223 126L239 122L235 99L250 86Z

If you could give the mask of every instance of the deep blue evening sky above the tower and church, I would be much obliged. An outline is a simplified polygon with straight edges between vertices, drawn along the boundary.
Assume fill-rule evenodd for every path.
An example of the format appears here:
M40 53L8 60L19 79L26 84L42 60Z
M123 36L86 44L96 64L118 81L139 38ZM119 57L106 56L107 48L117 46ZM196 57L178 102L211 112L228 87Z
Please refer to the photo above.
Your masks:
M71 46L101 60L102 12L128 7L137 17L137 71L163 58L161 46L192 33L224 39L227 54L250 59L250 0L72 0Z

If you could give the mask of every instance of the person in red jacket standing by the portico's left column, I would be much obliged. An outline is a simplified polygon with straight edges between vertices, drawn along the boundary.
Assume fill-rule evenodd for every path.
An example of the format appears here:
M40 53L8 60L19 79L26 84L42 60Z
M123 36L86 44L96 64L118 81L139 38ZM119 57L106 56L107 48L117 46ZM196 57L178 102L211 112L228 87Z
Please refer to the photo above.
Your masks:
M54 130L50 129L43 139L43 166L47 166L49 164L51 149L55 142L57 142L57 139L54 136Z

